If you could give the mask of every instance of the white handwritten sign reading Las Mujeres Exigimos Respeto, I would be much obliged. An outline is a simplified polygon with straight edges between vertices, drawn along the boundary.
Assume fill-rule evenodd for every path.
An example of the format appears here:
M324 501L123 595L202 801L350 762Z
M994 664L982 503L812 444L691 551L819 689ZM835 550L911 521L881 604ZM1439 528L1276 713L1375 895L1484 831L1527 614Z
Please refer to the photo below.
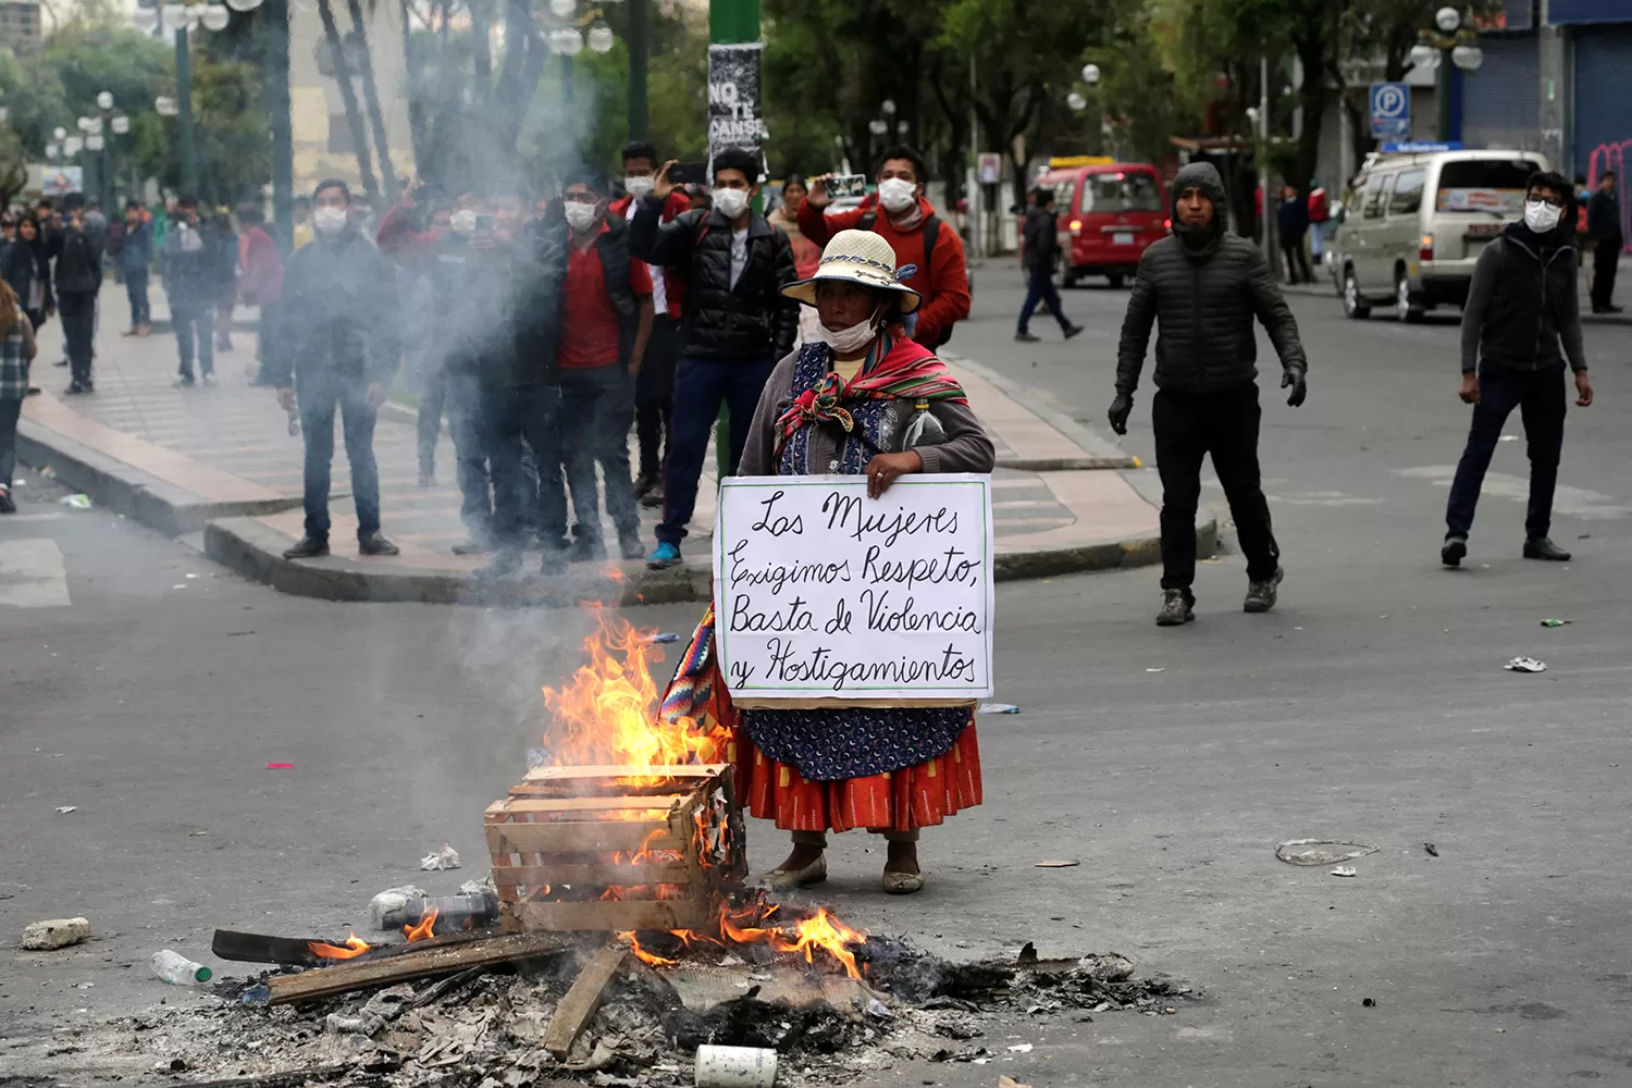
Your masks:
M992 693L992 481L731 476L715 649L738 700L934 703Z

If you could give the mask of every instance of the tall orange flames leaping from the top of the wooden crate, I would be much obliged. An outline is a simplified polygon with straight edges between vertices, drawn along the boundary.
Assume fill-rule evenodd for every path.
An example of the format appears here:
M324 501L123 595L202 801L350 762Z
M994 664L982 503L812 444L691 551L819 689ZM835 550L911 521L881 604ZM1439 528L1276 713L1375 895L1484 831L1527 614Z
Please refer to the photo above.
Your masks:
M607 608L589 605L596 631L584 639L589 664L560 688L543 688L552 714L545 745L557 767L654 767L718 763L730 731L716 721L658 714L659 692L648 662L663 661L650 631L636 631Z

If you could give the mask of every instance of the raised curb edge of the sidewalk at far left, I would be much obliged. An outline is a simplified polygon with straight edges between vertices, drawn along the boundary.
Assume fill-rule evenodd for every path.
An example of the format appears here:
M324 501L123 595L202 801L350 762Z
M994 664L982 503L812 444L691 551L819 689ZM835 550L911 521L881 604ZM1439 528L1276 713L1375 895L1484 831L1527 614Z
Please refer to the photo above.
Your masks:
M51 467L64 486L166 537L196 533L219 517L259 517L300 506L295 498L212 502L26 418L18 421L16 457L31 468Z

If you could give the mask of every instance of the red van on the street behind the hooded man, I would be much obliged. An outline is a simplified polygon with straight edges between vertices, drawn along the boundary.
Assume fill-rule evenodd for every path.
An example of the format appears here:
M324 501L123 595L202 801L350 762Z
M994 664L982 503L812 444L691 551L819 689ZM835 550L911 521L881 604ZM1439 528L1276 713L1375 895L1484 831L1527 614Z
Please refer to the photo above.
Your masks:
M1139 268L1146 246L1172 228L1167 186L1147 163L1051 170L1038 181L1059 212L1061 284L1105 276L1111 287Z

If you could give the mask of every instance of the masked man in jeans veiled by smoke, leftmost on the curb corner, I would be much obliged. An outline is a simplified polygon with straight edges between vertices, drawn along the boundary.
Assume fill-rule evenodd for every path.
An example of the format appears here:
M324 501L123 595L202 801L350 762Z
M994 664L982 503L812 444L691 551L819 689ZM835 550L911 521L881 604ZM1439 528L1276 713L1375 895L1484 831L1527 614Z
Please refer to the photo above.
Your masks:
M395 277L374 243L349 227L344 181L318 183L312 204L313 241L289 258L276 336L263 346L277 403L284 411L299 403L305 439L305 535L284 558L328 555L336 411L351 462L357 553L397 555L380 535L374 462L374 422L398 360Z

